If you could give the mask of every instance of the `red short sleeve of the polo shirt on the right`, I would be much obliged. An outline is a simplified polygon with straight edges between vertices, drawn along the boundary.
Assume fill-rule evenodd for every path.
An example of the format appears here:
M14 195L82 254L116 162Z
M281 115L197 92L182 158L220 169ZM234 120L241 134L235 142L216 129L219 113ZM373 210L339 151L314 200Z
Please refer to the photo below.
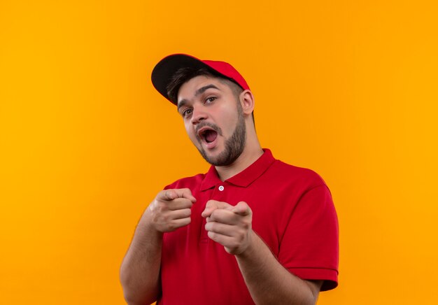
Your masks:
M278 261L305 280L324 280L321 291L337 287L339 227L330 190L318 185L302 194L285 229Z

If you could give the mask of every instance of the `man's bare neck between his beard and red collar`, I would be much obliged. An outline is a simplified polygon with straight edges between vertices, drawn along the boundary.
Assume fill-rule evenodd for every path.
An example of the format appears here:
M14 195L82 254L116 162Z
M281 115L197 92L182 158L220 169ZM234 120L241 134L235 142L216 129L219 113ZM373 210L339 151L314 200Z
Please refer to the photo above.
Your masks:
M225 181L237 173L240 173L248 166L253 164L258 158L263 155L263 150L259 146L254 149L244 149L241 155L232 164L226 166L216 166L216 171L220 180Z

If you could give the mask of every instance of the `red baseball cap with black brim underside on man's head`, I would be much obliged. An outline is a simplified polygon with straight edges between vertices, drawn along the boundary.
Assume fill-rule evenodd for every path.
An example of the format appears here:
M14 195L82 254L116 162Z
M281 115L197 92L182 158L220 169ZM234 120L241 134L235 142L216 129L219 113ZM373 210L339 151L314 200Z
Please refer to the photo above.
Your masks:
M171 82L174 73L178 71L178 69L185 67L213 69L220 75L241 86L243 90L249 90L249 86L243 76L227 62L201 60L186 54L173 54L161 59L152 71L152 83L155 89L169 101L171 100L167 95L167 85Z

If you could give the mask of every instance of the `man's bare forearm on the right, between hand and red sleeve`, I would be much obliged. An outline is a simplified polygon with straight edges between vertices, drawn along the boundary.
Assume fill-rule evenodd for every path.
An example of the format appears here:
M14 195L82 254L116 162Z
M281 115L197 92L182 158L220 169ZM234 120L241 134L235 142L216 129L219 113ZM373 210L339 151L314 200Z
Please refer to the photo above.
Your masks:
M316 303L320 283L290 274L255 232L250 239L250 246L236 260L255 304Z

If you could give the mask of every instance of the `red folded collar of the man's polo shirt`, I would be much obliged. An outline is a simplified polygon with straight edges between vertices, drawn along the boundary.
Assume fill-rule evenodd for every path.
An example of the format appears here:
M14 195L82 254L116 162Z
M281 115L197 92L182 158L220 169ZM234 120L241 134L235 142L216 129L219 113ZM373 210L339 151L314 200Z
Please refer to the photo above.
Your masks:
M269 166L271 166L271 164L275 161L271 150L263 148L263 151L263 155L255 160L253 164L248 166L246 169L243 169L243 171L241 171L240 173L237 173L231 178L228 178L227 180L225 180L225 182L240 187L248 187L248 185L253 183L254 180L262 176L262 173L269 169ZM218 183L222 183L222 180L220 180L215 166L212 165L209 171L206 173L204 180L202 180L201 190L209 190L211 187L214 187Z

